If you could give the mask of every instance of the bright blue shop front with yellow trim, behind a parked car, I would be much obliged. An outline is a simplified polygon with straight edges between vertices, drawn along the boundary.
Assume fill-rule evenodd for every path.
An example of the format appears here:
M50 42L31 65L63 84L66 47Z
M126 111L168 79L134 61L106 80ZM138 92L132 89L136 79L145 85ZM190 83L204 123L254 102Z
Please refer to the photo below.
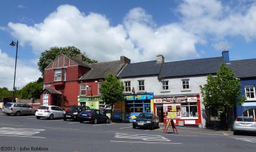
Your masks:
M140 113L154 113L153 98L153 92L125 95L124 121L132 122Z

